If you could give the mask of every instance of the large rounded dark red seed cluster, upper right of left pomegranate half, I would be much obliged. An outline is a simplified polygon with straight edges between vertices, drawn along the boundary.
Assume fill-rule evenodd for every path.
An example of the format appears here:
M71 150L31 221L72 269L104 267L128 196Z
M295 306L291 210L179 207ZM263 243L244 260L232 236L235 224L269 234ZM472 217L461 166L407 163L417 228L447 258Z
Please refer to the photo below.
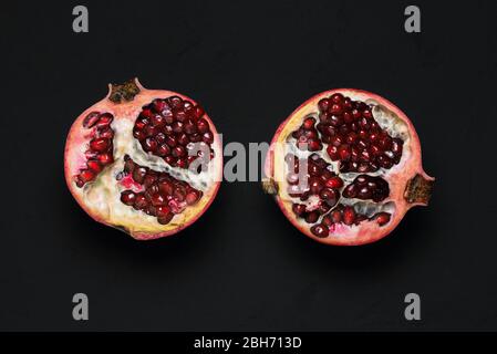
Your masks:
M156 98L143 107L133 136L145 152L173 167L188 168L198 157L214 157L214 134L200 106L178 96Z

